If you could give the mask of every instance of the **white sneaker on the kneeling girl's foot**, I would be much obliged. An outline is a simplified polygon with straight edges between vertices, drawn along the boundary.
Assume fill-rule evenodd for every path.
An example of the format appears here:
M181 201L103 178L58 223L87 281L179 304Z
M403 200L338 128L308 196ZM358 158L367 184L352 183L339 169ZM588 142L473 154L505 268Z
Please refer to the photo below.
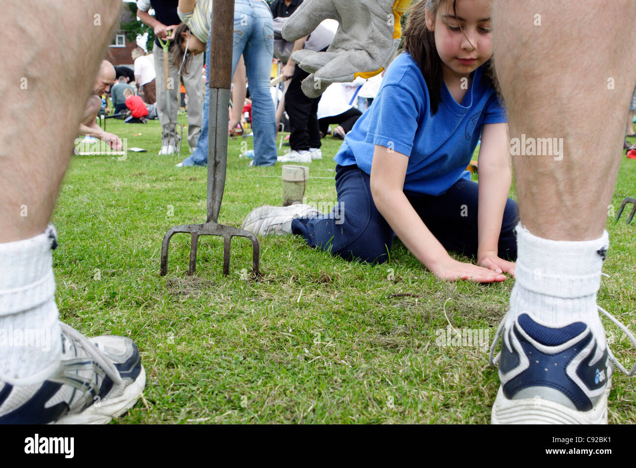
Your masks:
M254 234L268 236L271 234L291 234L291 220L294 218L311 218L322 213L313 206L294 204L291 206L259 206L252 209L241 225L241 229Z

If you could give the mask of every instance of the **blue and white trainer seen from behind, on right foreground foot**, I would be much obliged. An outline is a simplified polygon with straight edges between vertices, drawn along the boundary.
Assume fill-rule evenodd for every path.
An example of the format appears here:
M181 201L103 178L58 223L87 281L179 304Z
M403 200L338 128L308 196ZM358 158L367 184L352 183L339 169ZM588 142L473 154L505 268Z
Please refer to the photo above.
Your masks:
M598 309L636 345L624 325ZM501 351L493 357L500 336ZM528 313L502 320L490 348L490 364L497 362L501 386L493 424L606 424L614 368L629 376L636 372L636 365L626 371L605 336L595 336L588 324L556 327Z

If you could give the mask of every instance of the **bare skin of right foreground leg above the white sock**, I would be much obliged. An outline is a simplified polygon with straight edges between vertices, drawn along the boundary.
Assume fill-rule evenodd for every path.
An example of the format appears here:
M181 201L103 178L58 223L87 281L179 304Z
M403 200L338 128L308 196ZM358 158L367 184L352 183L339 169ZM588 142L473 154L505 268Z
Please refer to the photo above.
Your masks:
M562 160L513 156L522 224L541 238L597 239L636 82L636 3L497 1L493 16L510 138L563 138Z

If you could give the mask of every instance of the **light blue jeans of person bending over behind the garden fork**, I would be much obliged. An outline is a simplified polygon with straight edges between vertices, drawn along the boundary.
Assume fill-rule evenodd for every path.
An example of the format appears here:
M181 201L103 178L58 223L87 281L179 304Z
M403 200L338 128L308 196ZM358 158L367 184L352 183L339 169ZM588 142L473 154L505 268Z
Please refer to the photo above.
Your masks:
M205 56L210 56L211 37L207 39ZM245 59L247 81L252 99L252 130L254 131L254 166L273 166L278 156L276 148L276 115L270 76L273 57L272 12L268 6L255 0L235 0L234 46L232 50L232 75L240 55ZM210 67L205 67L208 83ZM239 103L242 105L242 103ZM207 164L210 91L205 87L203 126L193 155L184 160L184 166Z

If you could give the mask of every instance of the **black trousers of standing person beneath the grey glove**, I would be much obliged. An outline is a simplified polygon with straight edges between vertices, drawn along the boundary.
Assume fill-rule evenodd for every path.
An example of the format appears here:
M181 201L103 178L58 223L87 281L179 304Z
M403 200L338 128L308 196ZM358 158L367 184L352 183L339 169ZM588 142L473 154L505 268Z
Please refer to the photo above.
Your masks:
M307 97L301 89L301 82L309 73L296 65L294 76L285 94L285 110L289 116L289 146L291 150L320 148L320 128L318 126L318 103L320 97Z

